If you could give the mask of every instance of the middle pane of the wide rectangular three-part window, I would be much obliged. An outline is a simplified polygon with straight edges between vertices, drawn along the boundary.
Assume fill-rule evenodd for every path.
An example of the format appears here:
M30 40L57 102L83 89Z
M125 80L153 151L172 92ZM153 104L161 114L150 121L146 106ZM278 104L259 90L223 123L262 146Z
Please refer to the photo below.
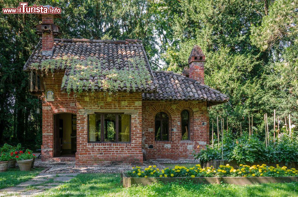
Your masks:
M116 139L116 114L105 114L104 139L107 142L114 142Z

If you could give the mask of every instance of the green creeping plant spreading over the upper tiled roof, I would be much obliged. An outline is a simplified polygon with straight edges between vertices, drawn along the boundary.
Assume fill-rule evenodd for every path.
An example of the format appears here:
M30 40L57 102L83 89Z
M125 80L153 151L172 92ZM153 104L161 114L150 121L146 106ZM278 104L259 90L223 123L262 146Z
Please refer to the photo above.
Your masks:
M117 60L119 65L126 64L122 60ZM135 91L136 87L145 87L146 84L150 85L151 75L146 68L146 62L140 57L129 58L127 66L124 69L111 69L107 70L109 65L104 60L101 62L95 57L88 57L85 60L79 60L77 57L63 57L58 59L45 60L38 63L31 64L31 68L41 68L42 71L54 73L55 69L59 66L61 69L66 69L67 75L64 75L61 87L66 84L66 91L68 94L73 92L80 94L83 89L89 89L92 92L97 88L102 87L103 91L108 93L115 93L118 88L126 87L128 92ZM128 68L128 69L127 69ZM97 81L90 78L97 77ZM67 83L66 83L67 81Z

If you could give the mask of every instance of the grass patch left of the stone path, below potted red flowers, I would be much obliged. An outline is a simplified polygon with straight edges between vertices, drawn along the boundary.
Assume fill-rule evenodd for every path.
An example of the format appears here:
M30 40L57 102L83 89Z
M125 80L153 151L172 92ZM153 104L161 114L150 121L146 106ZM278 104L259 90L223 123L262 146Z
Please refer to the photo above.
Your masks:
M12 187L34 178L44 168L34 168L32 171L20 171L19 168L8 169L6 172L0 172L0 189Z

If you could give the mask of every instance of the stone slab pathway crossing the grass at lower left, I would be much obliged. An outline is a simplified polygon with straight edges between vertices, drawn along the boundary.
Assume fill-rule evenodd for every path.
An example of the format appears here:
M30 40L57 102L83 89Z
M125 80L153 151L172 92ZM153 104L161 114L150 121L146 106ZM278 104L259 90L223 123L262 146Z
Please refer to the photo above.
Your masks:
M54 187L63 185L70 179L77 176L78 173L71 174L49 174L40 173L33 179L20 183L15 187L7 187L0 190L0 196L35 196L46 192Z

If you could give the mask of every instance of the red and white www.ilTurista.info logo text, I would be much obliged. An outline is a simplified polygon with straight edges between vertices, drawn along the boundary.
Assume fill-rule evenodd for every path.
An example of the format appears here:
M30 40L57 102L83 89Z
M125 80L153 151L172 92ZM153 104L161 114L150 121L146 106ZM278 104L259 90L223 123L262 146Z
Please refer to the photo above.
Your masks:
M3 14L60 14L61 8L52 6L28 6L28 2L20 2L17 8L2 8Z

